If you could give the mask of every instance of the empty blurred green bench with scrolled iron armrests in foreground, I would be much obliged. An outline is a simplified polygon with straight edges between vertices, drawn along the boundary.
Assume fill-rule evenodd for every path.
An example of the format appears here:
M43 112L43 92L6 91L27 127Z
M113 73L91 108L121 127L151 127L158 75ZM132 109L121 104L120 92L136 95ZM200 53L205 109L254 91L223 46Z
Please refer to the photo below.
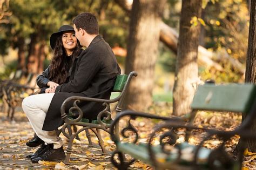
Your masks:
M116 144L116 151L112 153L112 164L118 169L127 169L135 160L141 160L156 169L241 169L242 152L237 160L233 160L225 151L225 142L234 135L240 135L242 139L255 138L247 128L253 123L255 117L256 86L253 84L200 85L191 108L190 121L159 117L149 113L121 112L111 124L111 139ZM193 118L200 110L245 113L246 118L233 131L194 127ZM126 117L128 117L126 120L129 120L127 126L121 129L118 122ZM153 128L154 131L147 138L147 142L139 142L138 128L132 125L133 120L141 117L162 120ZM135 136L133 142L119 140L116 128L120 128L124 139L132 136L127 135L127 132L132 132ZM186 137L192 130L204 131L205 135L197 146L189 144L187 140L178 144L177 135L174 133L178 128L186 128ZM203 147L204 142L213 137L223 142L213 150ZM156 139L159 143L157 145ZM242 143L240 147L241 150L244 149L244 144ZM133 159L127 160L125 154Z

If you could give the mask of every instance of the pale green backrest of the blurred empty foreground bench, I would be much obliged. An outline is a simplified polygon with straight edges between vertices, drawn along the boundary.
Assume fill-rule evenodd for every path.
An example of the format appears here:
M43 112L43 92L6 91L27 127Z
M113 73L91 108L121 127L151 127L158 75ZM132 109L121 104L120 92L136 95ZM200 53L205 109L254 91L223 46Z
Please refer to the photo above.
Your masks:
M198 86L191 108L248 113L255 99L254 84L205 84Z

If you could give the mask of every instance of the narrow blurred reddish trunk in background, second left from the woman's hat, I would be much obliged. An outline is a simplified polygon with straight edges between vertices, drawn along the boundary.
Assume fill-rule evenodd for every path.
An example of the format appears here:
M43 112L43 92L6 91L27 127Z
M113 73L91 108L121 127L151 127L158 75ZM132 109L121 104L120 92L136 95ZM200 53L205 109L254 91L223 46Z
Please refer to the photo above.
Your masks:
M25 40L24 38L19 38L18 40L18 69L23 72L26 71L26 57L25 57Z

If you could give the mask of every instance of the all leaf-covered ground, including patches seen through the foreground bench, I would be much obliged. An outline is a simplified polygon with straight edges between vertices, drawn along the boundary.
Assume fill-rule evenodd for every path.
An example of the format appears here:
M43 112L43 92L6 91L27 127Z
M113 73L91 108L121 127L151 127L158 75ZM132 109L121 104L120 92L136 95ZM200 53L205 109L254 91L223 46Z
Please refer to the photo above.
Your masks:
M158 104L149 109L151 113L159 115L170 116L170 104ZM4 168L66 168L66 169L116 169L110 161L110 153L114 150L113 142L107 133L102 133L106 149L109 154L102 155L101 149L97 145L97 140L92 135L92 140L95 144L93 147L88 147L88 142L85 133L80 133L80 141L75 140L73 144L73 153L71 154L71 164L65 165L62 162L45 162L41 161L39 164L32 164L32 162L25 158L27 154L36 151L36 148L30 148L25 145L29 138L33 137L32 128L26 119L25 114L17 112L15 114L15 121L6 119L6 114L0 112L0 169ZM194 125L201 127L214 127L221 130L232 130L241 122L241 116L234 113L208 113L199 112L195 119ZM148 119L136 119L134 125L142 129L140 133L140 142L145 142L146 137L152 132L152 127L156 121ZM122 124L122 122L121 122ZM179 134L178 141L184 140L184 130L177 132ZM198 144L203 132L193 132L190 137L191 144ZM64 140L64 149L67 147L66 138L60 135ZM232 151L237 144L239 137L234 137L226 144L226 150L232 155ZM217 139L212 139L205 143L207 148L215 148L220 144ZM245 152L244 169L256 169L255 160L256 153ZM143 164L143 162L136 161L131 165L132 169L152 169L151 166Z

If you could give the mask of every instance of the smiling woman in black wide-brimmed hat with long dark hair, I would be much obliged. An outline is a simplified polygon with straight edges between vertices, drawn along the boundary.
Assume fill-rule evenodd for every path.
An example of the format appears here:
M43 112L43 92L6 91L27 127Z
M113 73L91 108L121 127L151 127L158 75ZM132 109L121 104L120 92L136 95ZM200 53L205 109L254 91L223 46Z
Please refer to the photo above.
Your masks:
M75 36L75 31L70 25L60 26L58 32L52 33L50 45L53 49L51 64L37 77L37 85L42 88L41 93L49 93L55 90L59 84L69 80L69 72L73 60L82 51ZM26 142L26 145L30 147L36 147L41 144L43 144L43 140L38 138L37 135L31 141ZM38 154L38 152L35 154ZM31 158L35 154L28 155L27 158Z

